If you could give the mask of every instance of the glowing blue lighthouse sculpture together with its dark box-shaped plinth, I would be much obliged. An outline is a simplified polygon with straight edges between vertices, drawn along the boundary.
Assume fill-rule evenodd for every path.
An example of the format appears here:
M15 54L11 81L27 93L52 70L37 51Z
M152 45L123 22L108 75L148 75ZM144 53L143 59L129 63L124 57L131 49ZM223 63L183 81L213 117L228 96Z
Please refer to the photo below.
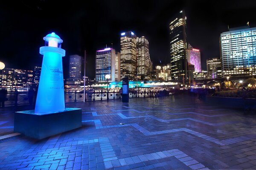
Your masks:
M63 40L54 32L44 37L44 55L35 110L15 113L14 131L37 139L82 126L82 111L65 108L61 48Z

